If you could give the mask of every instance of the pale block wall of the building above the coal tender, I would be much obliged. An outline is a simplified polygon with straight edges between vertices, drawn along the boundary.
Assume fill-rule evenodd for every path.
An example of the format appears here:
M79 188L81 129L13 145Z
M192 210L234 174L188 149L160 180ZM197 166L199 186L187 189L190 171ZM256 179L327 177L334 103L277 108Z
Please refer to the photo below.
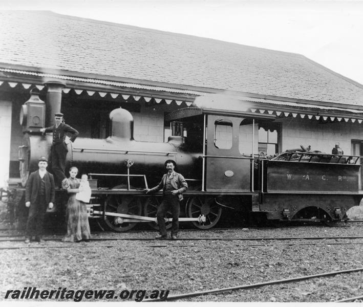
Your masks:
M351 141L363 140L363 124L358 122L334 122L321 124L316 119L285 118L282 122L282 151L311 145L311 150L331 153L335 142L345 155L351 154Z

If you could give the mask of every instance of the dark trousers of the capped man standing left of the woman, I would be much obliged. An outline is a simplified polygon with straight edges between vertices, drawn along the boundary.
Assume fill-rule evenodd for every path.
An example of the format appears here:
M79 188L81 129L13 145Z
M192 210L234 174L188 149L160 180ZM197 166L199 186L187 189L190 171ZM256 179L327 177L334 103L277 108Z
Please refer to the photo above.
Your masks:
M45 195L39 195L35 203L29 207L29 215L26 228L26 236L41 237L43 233L44 217L47 211L47 201Z

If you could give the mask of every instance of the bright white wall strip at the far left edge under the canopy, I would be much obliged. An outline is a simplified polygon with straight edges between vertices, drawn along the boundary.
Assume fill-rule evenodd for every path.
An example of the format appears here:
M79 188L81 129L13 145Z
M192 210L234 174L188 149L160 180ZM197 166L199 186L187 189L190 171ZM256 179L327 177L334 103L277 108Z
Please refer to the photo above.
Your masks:
M9 180L11 109L10 101L0 101L0 187L5 187Z

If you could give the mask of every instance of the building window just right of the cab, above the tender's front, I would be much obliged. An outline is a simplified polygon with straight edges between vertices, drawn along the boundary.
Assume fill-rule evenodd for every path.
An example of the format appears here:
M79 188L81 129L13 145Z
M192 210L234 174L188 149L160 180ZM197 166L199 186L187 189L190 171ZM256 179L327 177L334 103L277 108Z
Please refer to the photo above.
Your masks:
M270 156L280 150L280 123L259 124L259 153Z

